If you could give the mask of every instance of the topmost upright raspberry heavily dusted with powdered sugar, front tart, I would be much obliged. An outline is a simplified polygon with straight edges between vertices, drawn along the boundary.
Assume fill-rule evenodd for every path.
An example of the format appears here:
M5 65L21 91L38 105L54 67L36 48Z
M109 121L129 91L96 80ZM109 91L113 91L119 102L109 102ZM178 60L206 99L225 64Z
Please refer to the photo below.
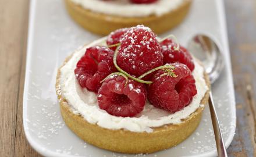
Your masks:
M131 27L121 40L118 66L136 77L161 66L163 55L156 35L143 25Z

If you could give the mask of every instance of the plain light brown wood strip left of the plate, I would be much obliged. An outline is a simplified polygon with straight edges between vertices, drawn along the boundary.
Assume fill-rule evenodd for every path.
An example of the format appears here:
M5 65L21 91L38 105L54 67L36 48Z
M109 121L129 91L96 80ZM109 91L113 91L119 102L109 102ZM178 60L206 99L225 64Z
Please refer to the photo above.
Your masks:
M38 156L22 124L28 13L29 0L0 1L0 156Z

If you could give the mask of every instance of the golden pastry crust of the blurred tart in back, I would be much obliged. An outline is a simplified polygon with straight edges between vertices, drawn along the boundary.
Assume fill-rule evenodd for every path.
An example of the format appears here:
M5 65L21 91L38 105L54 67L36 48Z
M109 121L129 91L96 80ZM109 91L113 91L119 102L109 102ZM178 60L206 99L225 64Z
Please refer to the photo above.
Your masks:
M87 30L100 35L108 35L118 28L133 27L137 24L144 24L152 28L157 34L163 33L183 21L189 12L191 2L192 0L184 1L178 8L161 16L121 17L93 12L84 9L71 0L65 0L67 12L69 12L74 21Z

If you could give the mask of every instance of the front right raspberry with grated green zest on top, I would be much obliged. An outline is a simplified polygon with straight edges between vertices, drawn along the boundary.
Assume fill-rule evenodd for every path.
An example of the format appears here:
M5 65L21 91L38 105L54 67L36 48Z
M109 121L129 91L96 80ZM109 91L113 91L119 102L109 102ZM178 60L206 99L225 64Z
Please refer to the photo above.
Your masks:
M189 105L197 94L194 77L190 69L182 63L172 63L172 70L161 69L151 77L148 86L148 101L157 108L177 112ZM176 76L172 76L173 73Z

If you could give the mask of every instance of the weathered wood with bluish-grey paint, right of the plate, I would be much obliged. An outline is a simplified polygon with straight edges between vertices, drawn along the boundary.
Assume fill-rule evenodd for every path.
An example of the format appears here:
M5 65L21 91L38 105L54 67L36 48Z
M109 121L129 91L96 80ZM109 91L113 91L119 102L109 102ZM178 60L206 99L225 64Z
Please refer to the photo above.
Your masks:
M256 156L256 1L226 0L237 128L229 156Z

